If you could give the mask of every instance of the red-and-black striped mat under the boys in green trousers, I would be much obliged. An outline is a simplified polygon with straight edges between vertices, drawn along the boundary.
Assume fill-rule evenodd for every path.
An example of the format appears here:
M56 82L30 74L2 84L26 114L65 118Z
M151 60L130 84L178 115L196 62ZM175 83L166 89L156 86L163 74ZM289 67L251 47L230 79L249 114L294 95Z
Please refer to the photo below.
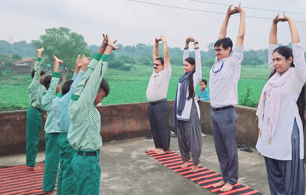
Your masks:
M43 191L45 164L37 163L37 165L41 167L41 170L33 171L31 167L26 165L0 167L0 194L46 194Z

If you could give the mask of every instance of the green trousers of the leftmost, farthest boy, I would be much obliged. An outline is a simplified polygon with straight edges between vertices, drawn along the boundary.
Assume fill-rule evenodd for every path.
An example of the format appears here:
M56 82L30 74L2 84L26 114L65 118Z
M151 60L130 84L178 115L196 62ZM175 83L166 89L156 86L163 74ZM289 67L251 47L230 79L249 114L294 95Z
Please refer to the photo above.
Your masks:
M27 166L33 167L36 162L39 133L42 123L42 111L29 107L27 110L27 139L26 139L26 161Z

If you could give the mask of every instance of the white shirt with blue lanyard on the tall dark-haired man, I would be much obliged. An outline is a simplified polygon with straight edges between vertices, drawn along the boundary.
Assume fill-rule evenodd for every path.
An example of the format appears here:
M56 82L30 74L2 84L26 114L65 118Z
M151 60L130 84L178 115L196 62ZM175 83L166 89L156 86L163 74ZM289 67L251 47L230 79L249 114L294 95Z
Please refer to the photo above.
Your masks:
M235 45L231 56L219 61L216 57L215 64L209 74L211 107L219 108L238 104L237 84L240 78L243 49L244 46Z

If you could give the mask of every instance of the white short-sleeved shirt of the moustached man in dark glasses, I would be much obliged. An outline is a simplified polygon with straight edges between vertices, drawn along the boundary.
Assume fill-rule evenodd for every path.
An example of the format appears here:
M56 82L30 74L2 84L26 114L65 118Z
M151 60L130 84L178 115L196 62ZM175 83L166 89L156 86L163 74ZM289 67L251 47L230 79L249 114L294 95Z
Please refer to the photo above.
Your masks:
M169 66L166 67L164 65L164 69L159 71L159 73L155 73L153 69L146 93L149 102L156 102L167 97L171 74L170 62Z

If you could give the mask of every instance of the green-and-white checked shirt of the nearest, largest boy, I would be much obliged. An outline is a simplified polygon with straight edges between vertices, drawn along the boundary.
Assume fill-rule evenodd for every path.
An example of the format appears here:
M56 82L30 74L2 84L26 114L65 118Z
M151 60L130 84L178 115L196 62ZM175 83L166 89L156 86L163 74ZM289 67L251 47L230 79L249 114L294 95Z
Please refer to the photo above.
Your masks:
M105 54L95 54L75 94L71 96L68 113L72 125L67 138L76 150L97 150L102 146L101 116L94 106L94 101L108 66L108 57L109 55Z

